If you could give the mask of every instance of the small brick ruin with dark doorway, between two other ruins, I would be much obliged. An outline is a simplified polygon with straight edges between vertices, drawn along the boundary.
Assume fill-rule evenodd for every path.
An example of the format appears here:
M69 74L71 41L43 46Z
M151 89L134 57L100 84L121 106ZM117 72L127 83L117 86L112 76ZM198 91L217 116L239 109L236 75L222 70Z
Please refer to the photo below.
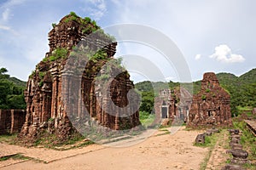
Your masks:
M154 111L158 119L175 118L185 121L189 115L192 94L183 87L160 90L154 99Z

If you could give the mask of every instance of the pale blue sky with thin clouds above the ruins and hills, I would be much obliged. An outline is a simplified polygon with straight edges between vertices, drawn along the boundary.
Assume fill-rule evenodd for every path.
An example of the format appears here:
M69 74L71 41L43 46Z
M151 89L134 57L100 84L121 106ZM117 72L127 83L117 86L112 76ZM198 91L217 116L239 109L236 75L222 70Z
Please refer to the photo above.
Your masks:
M102 28L134 23L161 31L183 53L193 80L201 79L206 71L240 76L256 66L255 7L254 0L1 0L0 67L26 81L49 51L51 24L74 11L96 20ZM120 44L118 54L153 60L160 55L129 43ZM165 77L175 81L172 67Z

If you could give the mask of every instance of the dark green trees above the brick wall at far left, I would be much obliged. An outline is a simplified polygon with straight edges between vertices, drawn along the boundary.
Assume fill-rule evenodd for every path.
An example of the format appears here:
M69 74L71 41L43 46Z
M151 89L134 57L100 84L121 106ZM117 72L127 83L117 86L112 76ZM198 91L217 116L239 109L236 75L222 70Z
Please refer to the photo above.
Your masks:
M7 72L0 69L0 109L26 109L23 94L26 82L10 77Z

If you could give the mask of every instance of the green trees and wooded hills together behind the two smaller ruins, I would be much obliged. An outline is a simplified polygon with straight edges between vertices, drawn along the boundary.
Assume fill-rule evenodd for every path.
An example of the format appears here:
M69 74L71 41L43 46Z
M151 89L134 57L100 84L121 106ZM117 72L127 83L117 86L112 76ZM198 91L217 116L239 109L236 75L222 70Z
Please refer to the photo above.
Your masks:
M256 107L256 69L236 77L230 73L218 73L220 86L230 93L230 106L232 115L238 113L237 106ZM142 94L141 111L151 112L154 106L154 95L157 95L160 89L177 88L179 82L138 82L135 87ZM184 86L184 84L183 84ZM197 94L201 89L201 81L193 82L193 94Z

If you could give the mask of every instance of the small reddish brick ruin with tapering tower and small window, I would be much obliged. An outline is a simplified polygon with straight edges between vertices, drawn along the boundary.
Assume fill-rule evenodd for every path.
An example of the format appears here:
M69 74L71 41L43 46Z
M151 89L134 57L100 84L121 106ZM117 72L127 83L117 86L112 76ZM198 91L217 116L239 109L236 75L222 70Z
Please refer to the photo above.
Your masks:
M204 74L201 90L193 96L189 127L230 125L230 94L221 88L213 72Z

